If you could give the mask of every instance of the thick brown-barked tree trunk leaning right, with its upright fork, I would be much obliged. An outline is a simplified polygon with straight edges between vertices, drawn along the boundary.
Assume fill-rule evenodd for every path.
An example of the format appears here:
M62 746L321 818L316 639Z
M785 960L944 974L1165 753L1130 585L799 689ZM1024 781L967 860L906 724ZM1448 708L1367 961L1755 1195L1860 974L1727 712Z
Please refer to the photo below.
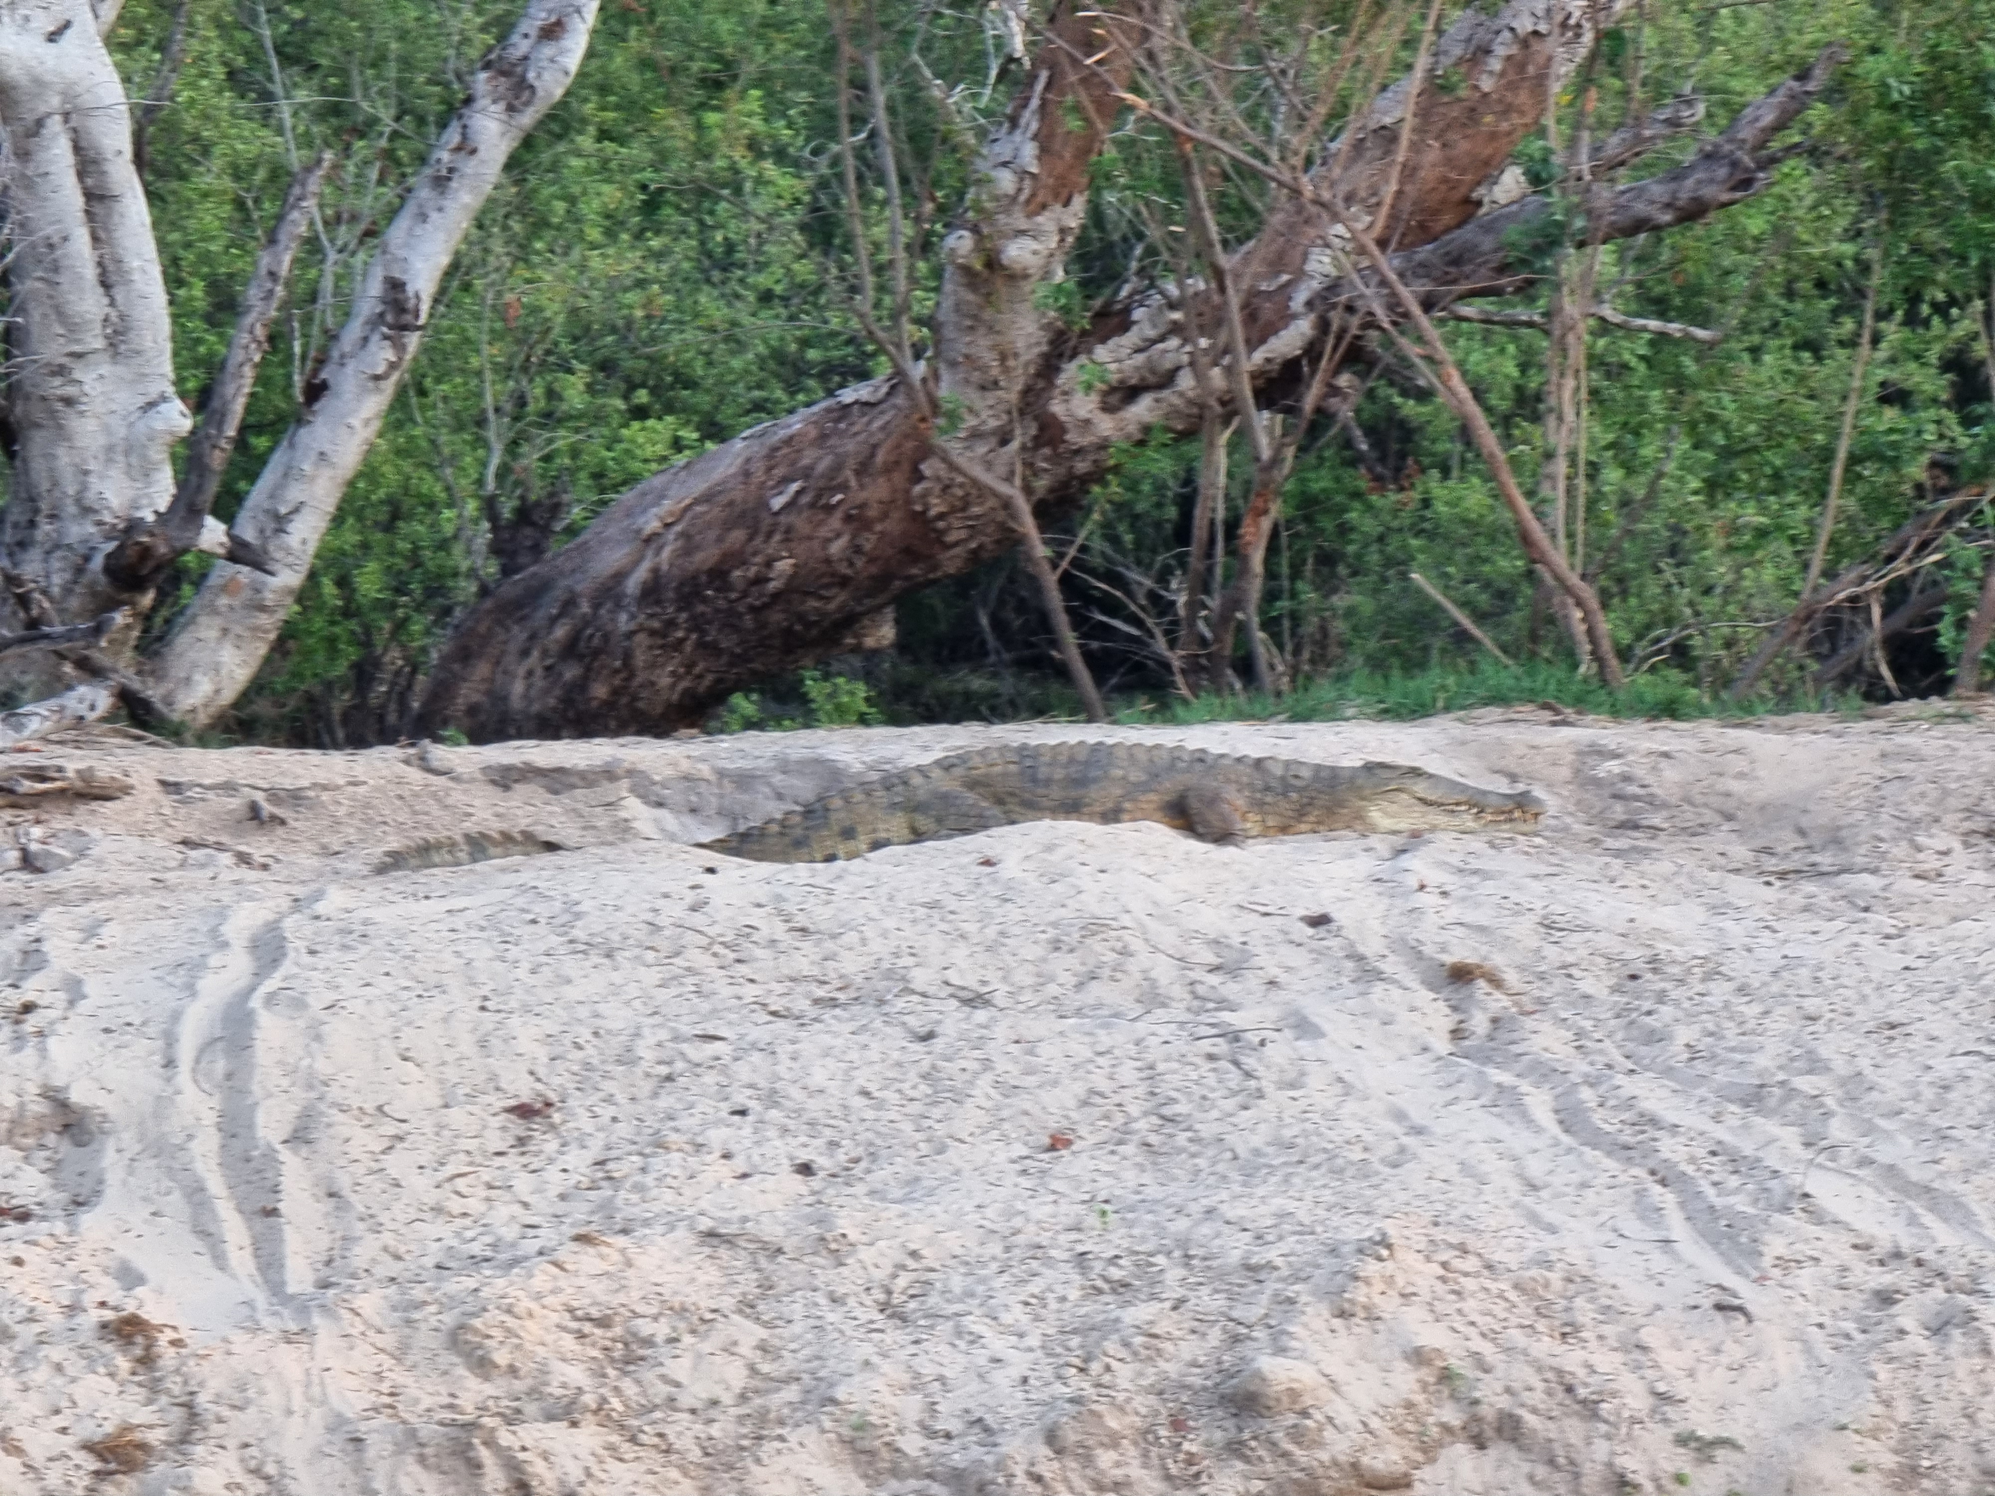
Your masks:
M1420 138L1462 152L1466 134L1474 144L1460 160L1476 168L1464 182L1410 152L1395 213L1402 241L1476 211L1470 191L1536 122L1550 72L1586 54L1598 10L1512 0L1496 20L1470 18L1442 38L1432 66L1458 66L1472 86L1422 116ZM1139 0L1055 12L984 150L966 221L944 239L924 377L960 419L946 439L1001 477L1021 471L1049 507L1099 475L1117 441L1195 427L1205 405L1177 335L1181 311L1161 297L1081 339L1033 307L1033 291L1063 275L1087 166L1145 20ZM1396 98L1387 90L1331 152L1347 201L1383 195ZM1243 283L1267 287L1249 307L1259 377L1307 351L1309 291L1331 277L1307 215L1277 209L1271 229L1283 241L1243 257ZM856 385L638 485L473 610L437 662L419 724L475 738L684 726L748 680L834 652L904 592L999 555L1015 543L1009 519L930 451L924 407L894 379Z

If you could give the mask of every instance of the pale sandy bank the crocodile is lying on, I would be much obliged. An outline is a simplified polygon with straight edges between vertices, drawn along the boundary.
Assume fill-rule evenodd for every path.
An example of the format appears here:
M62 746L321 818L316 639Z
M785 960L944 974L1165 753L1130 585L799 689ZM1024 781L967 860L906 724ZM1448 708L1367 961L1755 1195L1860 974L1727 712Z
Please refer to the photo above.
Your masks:
M0 1492L1995 1492L1995 718L1131 734L1536 838L684 844L1023 736L1099 734L50 744L140 792L4 812L82 856L0 876ZM455 830L577 850L367 872Z

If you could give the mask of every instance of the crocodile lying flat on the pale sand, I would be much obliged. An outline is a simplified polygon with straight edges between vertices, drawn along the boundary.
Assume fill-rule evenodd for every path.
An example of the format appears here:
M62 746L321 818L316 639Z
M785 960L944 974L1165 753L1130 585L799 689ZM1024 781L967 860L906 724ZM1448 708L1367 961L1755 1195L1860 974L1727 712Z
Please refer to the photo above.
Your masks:
M1153 820L1237 844L1307 832L1530 832L1542 814L1534 794L1478 790L1404 764L1053 742L938 758L700 846L754 862L840 862L1029 820Z

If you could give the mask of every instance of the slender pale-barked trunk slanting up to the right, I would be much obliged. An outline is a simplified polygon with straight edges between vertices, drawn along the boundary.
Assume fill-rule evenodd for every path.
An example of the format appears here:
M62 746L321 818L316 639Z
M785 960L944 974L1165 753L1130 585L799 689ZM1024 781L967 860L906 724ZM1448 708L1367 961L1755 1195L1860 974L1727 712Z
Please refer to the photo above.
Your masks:
M507 158L567 92L597 4L531 0L513 34L479 64L471 98L361 275L353 315L321 367L321 393L271 453L235 517L275 574L215 566L152 664L158 696L176 716L209 722L255 676L415 357L443 271Z

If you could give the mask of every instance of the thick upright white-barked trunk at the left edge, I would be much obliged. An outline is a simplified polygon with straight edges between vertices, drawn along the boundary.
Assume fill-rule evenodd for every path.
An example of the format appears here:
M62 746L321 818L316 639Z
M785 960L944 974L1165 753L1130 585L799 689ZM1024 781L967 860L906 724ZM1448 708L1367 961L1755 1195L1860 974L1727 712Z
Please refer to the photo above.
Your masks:
M98 10L106 26L116 16ZM172 499L170 451L192 425L174 391L166 281L124 82L98 24L86 0L0 0L16 367L0 566L58 600L70 622L130 602L96 561L132 519ZM0 588L0 632L38 622L12 598ZM46 694L58 670L46 652L8 660L0 688Z

